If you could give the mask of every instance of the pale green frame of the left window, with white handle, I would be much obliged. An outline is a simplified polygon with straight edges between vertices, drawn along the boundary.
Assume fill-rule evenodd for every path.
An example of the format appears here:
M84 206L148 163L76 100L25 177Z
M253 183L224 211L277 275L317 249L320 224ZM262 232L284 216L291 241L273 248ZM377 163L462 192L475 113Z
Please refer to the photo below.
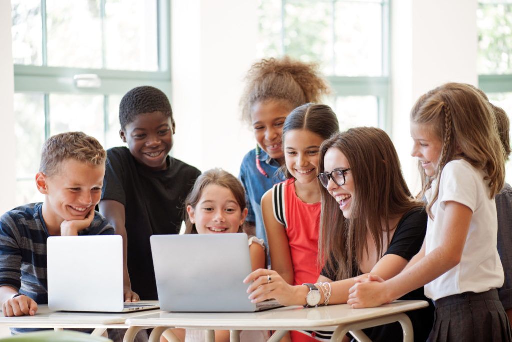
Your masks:
M102 18L106 0L100 0ZM44 95L45 140L52 132L50 94L95 94L103 95L104 136L109 130L109 96L123 95L130 89L150 85L172 94L171 75L171 12L169 0L156 0L158 32L158 71L113 70L106 68L73 68L48 66L46 0L41 0L42 21L42 65L14 64L14 93L39 93ZM103 44L103 49L105 45ZM104 53L104 50L103 50ZM101 84L94 88L77 87L75 75L95 74ZM16 183L32 180L32 177L16 177Z

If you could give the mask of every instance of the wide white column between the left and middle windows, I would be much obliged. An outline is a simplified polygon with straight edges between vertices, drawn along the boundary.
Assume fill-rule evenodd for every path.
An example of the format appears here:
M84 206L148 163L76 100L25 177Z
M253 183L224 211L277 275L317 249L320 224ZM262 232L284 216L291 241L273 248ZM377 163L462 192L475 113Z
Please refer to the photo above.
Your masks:
M172 2L174 155L205 171L238 175L255 146L240 120L243 77L256 55L258 4L253 1Z

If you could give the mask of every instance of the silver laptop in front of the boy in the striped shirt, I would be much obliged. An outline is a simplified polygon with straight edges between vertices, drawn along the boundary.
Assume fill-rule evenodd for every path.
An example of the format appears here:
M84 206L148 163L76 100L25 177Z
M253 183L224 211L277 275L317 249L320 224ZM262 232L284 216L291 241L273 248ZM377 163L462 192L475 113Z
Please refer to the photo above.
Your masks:
M48 246L48 307L55 311L132 312L154 301L124 303L120 235L52 236Z

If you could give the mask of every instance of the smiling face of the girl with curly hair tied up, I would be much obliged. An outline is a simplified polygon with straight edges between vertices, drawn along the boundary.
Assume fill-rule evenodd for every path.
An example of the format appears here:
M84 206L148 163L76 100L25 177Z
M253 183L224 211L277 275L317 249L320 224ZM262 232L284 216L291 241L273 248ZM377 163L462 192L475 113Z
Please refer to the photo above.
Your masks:
M292 106L283 101L267 100L252 106L254 136L260 147L273 159L283 158L283 125Z

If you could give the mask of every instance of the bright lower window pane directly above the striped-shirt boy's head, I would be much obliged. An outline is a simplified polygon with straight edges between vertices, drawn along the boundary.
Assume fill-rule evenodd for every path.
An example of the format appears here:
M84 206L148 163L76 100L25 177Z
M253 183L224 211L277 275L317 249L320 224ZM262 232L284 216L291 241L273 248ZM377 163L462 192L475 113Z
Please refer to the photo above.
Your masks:
M103 95L50 94L50 134L82 131L105 145Z

